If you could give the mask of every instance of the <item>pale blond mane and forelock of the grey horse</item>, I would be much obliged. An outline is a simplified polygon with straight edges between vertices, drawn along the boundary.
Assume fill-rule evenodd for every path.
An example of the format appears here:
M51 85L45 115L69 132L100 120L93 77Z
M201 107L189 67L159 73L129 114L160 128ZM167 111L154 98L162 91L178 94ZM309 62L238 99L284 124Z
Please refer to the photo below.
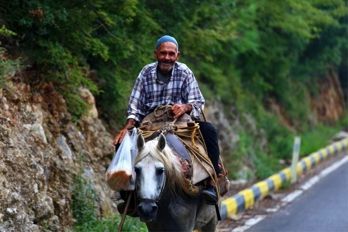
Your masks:
M150 155L151 158L157 160L158 162L163 163L167 183L174 192L178 193L177 191L180 192L184 190L185 186L181 164L168 144L166 144L162 153L157 148L157 143L157 139L146 142L143 149L139 151L134 165L136 165L148 155Z

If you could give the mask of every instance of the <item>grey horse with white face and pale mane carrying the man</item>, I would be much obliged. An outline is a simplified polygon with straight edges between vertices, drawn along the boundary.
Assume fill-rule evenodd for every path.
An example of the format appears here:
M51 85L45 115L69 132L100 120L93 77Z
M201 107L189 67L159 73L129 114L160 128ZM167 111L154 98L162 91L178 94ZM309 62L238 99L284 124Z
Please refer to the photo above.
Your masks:
M149 232L192 232L199 228L202 232L215 231L218 223L215 206L205 204L199 212L203 203L200 196L184 192L181 164L166 146L165 136L160 134L145 143L140 134L136 145L139 154L134 170L140 200L137 211Z

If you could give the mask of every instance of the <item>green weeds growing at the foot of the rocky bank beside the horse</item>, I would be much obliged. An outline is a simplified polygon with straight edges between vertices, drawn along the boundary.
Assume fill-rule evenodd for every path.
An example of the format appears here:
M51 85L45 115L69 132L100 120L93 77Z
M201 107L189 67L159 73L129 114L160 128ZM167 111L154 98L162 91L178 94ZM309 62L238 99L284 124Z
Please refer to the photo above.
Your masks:
M73 232L114 232L117 231L121 216L117 214L106 214L104 218L98 218L96 212L96 200L92 183L85 181L82 177L84 170L82 162L78 175L73 179L73 197L71 210L73 217L76 219ZM147 227L139 218L126 217L122 231L124 232L146 232Z

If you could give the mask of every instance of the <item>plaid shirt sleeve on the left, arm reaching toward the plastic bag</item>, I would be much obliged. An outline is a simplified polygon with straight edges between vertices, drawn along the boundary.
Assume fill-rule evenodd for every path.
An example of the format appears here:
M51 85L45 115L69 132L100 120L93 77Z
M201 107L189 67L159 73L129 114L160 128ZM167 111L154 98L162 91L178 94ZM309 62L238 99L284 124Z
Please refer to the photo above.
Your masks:
M132 94L129 98L127 120L132 118L136 122L141 122L145 117L145 88L142 77L143 70L136 79Z

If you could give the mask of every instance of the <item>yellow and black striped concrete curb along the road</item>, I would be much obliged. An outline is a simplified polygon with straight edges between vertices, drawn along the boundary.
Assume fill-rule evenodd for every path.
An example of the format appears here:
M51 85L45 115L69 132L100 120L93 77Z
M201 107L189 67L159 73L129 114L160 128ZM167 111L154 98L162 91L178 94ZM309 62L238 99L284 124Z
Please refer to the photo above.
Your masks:
M342 139L331 145L326 146L316 152L311 153L307 157L302 158L297 163L297 176L300 176L313 166L325 160L333 154L337 154L348 148L348 139ZM224 220L231 214L237 214L244 209L249 208L255 202L262 199L269 192L279 189L279 187L291 178L291 167L285 168L278 173L254 184L247 189L238 192L237 194L222 201L221 205L221 220Z

